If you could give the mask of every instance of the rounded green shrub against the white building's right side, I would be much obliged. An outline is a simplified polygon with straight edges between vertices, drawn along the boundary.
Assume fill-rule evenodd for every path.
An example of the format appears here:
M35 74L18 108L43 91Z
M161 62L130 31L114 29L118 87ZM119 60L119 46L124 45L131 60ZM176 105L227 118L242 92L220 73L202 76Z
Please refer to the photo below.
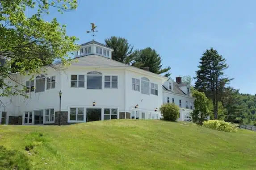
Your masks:
M176 121L179 116L179 107L175 104L166 103L160 107L164 120Z

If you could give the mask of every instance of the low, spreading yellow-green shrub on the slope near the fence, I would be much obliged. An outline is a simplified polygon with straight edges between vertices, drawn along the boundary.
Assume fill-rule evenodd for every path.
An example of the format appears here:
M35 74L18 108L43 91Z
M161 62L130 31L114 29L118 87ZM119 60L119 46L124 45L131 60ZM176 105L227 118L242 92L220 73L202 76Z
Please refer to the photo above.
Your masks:
M203 122L203 126L210 129L215 129L223 132L236 132L235 125L223 120L208 120Z

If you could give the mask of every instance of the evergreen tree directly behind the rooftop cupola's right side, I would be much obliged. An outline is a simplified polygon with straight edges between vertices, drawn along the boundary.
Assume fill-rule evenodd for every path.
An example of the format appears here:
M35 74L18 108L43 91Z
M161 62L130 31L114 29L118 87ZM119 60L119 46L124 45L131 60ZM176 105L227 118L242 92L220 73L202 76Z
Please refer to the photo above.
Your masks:
M105 39L105 45L112 48L112 59L125 64L130 64L133 60L133 46L125 38L112 36Z

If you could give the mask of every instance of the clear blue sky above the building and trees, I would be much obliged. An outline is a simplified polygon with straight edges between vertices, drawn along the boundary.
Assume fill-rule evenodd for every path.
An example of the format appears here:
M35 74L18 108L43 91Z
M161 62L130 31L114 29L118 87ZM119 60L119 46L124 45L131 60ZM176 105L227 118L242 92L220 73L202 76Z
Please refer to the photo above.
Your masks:
M195 76L201 54L218 50L230 66L226 75L242 93L256 93L255 0L80 0L76 11L61 15L67 34L92 40L86 34L97 25L99 42L110 36L125 37L134 49L154 48L171 66L171 77Z

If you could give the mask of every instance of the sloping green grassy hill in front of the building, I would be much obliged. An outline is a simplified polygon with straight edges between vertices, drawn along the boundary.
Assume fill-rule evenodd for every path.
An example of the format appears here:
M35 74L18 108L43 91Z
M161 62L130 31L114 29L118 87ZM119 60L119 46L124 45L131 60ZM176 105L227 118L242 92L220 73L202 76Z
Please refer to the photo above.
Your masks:
M256 170L256 132L160 120L2 125L0 145L0 170Z

